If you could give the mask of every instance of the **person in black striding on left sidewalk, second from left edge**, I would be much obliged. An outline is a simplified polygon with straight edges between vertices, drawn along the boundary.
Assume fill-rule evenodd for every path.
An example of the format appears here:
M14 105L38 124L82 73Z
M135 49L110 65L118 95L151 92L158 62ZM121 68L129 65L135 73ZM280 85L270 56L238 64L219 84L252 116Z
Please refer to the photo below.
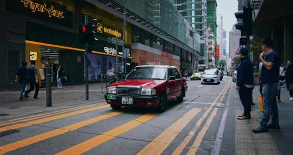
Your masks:
M27 66L27 74L28 74L28 83L30 84L30 89L25 91L24 97L30 97L28 94L34 90L34 87L36 87L34 100L40 99L38 98L39 94L39 80L38 80L38 67L36 66L36 61L31 61L31 65Z

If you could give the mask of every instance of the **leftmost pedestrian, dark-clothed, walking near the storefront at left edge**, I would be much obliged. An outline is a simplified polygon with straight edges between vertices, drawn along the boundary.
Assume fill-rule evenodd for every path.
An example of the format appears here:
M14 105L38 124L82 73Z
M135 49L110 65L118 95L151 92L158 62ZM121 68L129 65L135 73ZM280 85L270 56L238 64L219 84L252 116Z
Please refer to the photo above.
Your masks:
M20 97L19 97L19 99L22 100L24 97L25 86L27 84L26 62L22 62L21 67L18 68L17 73L16 73L16 77L15 77L15 82L20 83Z

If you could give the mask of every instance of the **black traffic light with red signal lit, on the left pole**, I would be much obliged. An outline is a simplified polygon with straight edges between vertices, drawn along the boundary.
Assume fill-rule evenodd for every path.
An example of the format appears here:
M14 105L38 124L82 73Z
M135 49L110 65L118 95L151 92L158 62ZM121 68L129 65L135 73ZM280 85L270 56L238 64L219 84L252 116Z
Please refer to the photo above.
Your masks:
M93 45L95 42L95 25L89 23L88 25L80 25L79 26L79 41L80 43L88 43L89 45Z

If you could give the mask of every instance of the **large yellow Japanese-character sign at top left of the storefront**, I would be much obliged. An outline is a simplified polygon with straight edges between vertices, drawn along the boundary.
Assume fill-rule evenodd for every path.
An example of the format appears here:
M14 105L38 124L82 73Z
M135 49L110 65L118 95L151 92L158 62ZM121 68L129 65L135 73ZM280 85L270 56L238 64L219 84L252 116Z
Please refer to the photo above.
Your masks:
M20 0L25 8L30 8L35 13L36 11L41 13L48 13L49 17L64 18L63 12L55 10L54 6L48 7L46 3L39 4L32 0ZM48 7L48 8L47 8Z

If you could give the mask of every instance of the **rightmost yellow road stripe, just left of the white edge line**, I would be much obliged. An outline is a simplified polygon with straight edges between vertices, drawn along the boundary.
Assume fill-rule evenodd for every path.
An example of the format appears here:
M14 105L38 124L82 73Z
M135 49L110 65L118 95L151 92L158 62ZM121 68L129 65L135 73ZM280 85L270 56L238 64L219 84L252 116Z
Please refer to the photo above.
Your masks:
M187 154L195 154L196 151L198 150L200 144L201 144L201 141L204 137L204 135L206 135L214 117L216 116L217 114L217 111L218 109L215 108L212 112L212 114L210 115L210 117L208 118L206 124L204 124L204 126L201 128L200 132L198 133L193 145L191 146L191 148L188 150Z

